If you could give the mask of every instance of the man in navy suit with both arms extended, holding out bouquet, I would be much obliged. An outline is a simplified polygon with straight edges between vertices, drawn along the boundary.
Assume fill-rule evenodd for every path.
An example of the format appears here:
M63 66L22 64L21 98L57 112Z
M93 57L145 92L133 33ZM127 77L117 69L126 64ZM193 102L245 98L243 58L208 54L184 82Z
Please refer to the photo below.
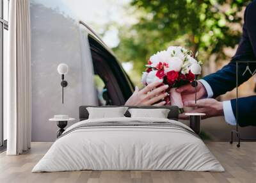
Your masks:
M205 76L198 82L198 100L195 104L195 88L191 84L177 88L177 92L182 95L184 106L197 107L191 113L205 113L204 118L212 116L225 116L225 120L230 125L236 125L236 99L219 102L215 99L228 91L236 88L236 61L245 61L250 65L250 61L256 61L256 0L252 1L244 12L243 35L235 56L230 63L214 74ZM239 85L252 77L250 72L246 72L247 64L239 65ZM252 72L256 69L255 64L250 65ZM207 99L205 99L207 98ZM241 127L256 125L256 95L238 99L239 125ZM188 116L180 115L181 119Z

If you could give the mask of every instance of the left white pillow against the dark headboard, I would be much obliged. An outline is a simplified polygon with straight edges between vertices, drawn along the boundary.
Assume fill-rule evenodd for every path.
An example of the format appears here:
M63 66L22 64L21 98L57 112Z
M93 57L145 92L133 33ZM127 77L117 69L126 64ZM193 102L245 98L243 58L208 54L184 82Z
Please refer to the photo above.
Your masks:
M124 114L128 107L86 107L89 113L89 119L95 118L120 118L125 117Z

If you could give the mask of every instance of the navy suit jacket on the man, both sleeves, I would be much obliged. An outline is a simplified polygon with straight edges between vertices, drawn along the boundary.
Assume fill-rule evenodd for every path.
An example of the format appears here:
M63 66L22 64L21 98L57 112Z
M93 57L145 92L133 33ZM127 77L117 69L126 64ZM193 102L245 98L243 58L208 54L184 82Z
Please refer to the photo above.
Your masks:
M239 64L238 84L242 84L252 74L243 72L247 63L252 72L256 69L256 0L250 3L244 12L243 35L237 48L235 56L230 63L214 74L205 76L203 79L210 84L214 98L236 88L236 61L244 61L246 64ZM232 111L236 116L236 99L231 100ZM238 118L240 126L256 125L256 95L238 99Z

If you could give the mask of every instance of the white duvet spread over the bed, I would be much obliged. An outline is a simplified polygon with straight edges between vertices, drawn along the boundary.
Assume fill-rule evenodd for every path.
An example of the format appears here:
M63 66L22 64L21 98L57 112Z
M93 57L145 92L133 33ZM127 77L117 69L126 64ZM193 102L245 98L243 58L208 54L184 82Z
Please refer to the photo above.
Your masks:
M79 126L93 122L169 122L161 125ZM159 123L161 124L161 123ZM182 130L184 129L184 130ZM163 118L106 118L76 123L57 139L32 172L72 170L224 171L186 125Z

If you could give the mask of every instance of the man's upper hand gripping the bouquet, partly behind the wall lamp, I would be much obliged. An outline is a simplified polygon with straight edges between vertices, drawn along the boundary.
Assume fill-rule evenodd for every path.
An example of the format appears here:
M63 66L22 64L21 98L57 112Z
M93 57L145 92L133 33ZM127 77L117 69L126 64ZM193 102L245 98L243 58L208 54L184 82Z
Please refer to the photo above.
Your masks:
M204 85L200 83L200 81L198 81L197 83L198 85L196 86L196 99L203 99L207 97L207 91L204 88ZM179 92L181 94L183 103L188 100L195 100L195 87L191 86L190 83L184 86L180 86L176 89L176 92Z

